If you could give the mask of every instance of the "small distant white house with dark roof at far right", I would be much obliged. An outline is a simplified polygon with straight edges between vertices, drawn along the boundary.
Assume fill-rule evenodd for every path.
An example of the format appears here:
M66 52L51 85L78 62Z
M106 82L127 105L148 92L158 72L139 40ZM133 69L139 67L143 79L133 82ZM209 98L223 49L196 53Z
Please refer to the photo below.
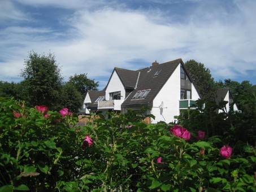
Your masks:
M233 102L232 94L227 88L221 88L217 90L216 103L219 104L222 101L226 101L227 104L225 104L225 107L219 110L219 113L229 112L230 110L241 112L241 110L238 110L236 103Z

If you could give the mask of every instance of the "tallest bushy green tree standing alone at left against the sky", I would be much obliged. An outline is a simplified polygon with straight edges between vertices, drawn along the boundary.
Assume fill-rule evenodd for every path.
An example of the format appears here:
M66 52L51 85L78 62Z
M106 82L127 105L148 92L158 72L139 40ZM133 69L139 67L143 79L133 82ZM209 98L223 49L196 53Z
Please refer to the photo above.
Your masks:
M29 53L21 76L24 77L25 100L31 106L44 104L56 109L61 99L62 76L53 54Z

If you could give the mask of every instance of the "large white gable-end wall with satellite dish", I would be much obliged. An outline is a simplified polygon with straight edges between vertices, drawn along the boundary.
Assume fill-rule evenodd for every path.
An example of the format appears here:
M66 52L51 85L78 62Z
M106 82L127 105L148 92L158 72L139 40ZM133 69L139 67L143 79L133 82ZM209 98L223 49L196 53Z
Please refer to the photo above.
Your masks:
M192 91L193 94L193 91ZM193 95L192 95L193 97ZM175 120L174 116L180 115L179 110L179 100L180 100L180 64L177 66L175 71L172 73L171 77L164 84L163 88L159 91L157 96L153 101L153 108L151 114L155 116L155 120L152 119L152 123L157 123L158 121L166 121L170 123ZM163 113L160 114L160 109L158 108L163 101Z

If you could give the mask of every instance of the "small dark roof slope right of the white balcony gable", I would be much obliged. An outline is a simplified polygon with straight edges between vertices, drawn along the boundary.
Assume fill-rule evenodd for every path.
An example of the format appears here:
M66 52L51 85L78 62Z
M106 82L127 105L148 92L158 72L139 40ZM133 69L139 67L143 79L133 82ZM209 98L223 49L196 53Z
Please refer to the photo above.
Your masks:
M136 86L137 78L138 78L138 71L132 71L128 69L122 69L115 67L114 69L120 80L122 81L125 89L134 89Z

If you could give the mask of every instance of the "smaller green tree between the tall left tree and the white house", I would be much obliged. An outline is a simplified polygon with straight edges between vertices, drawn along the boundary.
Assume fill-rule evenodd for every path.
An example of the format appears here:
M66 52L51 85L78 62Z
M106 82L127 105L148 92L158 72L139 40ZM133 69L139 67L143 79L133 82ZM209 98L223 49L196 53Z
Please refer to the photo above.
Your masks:
M91 80L85 73L71 76L68 82L75 86L76 90L81 93L82 97L85 97L88 90L97 90L97 87L99 86L98 81L96 82L95 80Z

